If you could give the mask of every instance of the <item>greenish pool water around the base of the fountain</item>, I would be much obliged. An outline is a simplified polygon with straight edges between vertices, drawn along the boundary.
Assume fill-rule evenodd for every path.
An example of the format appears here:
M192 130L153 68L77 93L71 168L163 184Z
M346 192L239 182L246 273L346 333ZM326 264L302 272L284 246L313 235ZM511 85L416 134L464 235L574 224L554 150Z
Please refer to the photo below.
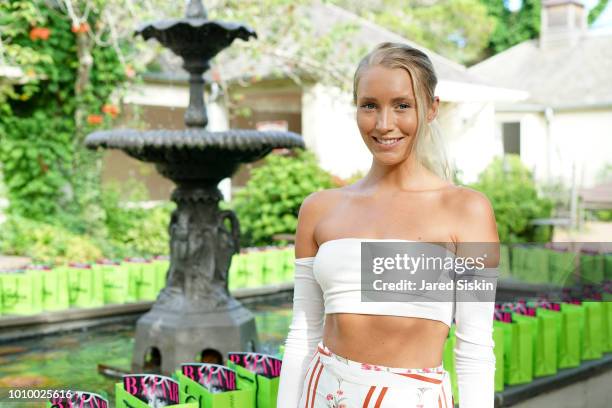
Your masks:
M276 354L291 323L290 304L260 304L251 310L262 352ZM120 380L99 374L97 366L103 363L129 370L134 332L132 321L0 344L0 388L82 390L113 401L114 384Z

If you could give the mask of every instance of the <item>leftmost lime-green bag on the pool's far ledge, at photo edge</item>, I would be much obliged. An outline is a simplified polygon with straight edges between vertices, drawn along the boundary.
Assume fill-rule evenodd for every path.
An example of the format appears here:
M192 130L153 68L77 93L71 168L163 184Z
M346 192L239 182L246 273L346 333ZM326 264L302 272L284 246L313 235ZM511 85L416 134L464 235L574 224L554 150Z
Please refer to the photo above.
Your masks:
M7 315L34 314L32 275L25 271L0 274L2 280L2 309Z

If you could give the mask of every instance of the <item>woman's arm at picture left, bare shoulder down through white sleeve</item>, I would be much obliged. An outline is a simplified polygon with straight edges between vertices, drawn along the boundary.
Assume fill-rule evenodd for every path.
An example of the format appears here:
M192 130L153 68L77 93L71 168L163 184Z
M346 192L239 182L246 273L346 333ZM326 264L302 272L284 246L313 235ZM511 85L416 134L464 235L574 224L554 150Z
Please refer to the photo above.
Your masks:
M313 235L318 218L315 194L304 200L298 215L293 319L285 342L278 388L278 408L298 406L310 359L323 336L323 293L313 275L314 256L318 250Z

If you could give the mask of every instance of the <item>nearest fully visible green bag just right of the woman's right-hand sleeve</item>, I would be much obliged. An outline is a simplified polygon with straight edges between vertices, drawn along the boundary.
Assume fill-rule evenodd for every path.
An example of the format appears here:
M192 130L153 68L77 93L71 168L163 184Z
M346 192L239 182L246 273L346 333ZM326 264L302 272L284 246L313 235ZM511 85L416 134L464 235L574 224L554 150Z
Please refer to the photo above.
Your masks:
M523 384L533 379L534 322L515 319L512 322L494 321L504 333L504 381L508 385Z

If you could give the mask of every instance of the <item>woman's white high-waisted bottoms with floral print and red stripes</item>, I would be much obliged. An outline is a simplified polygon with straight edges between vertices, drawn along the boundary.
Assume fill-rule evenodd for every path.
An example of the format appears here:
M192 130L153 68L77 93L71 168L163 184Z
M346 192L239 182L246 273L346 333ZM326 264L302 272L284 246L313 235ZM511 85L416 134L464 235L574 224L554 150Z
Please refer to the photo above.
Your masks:
M348 360L319 342L298 408L453 408L442 365L392 368Z

